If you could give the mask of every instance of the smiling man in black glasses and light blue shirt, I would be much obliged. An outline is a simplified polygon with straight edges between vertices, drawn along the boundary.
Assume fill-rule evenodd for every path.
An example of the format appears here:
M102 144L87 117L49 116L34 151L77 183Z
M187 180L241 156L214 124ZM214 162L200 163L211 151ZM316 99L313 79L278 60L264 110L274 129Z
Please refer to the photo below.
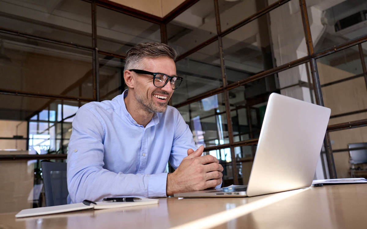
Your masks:
M80 107L68 151L68 203L103 197L163 197L222 182L223 167L200 156L177 109L167 106L182 81L174 49L160 43L128 51L128 89L112 100ZM176 169L164 173L168 160Z

